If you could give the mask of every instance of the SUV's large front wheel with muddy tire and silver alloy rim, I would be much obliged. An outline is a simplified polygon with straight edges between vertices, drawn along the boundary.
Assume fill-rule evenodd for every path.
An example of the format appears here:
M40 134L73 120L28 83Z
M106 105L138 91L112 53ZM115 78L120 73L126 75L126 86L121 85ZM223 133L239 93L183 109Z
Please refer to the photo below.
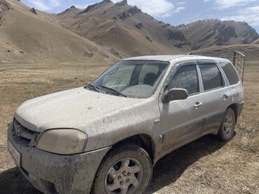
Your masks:
M92 193L144 193L152 172L151 158L141 147L125 145L113 149L99 167Z

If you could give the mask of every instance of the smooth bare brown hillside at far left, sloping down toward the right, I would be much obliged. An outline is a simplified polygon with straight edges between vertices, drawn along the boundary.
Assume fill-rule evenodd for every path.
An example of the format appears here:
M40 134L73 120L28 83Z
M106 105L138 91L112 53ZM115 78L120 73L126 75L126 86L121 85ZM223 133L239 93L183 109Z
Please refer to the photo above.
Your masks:
M56 16L0 0L0 61L115 61L104 47L64 29ZM3 16L2 16L3 15Z

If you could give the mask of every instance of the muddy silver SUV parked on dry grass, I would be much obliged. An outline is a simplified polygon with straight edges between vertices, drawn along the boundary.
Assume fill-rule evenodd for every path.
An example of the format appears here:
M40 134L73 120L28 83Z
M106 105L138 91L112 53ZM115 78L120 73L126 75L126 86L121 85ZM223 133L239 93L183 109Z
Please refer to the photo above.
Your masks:
M143 193L162 156L209 133L230 140L242 106L227 59L134 57L86 87L23 103L8 149L44 193Z

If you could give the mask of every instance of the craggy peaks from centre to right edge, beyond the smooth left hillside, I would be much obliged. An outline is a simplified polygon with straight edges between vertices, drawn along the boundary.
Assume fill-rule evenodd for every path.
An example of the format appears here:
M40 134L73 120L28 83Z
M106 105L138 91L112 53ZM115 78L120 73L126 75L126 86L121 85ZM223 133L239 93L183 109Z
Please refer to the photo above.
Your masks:
M200 20L172 27L127 1L104 0L57 15L62 27L123 56L172 54L218 45L249 44L259 38L246 22Z

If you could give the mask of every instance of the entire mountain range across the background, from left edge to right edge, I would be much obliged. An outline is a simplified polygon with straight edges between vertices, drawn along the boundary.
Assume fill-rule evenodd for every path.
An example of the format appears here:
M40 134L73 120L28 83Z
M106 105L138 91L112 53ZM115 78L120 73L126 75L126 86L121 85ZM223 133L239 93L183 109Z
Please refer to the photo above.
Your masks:
M179 54L259 38L246 22L200 20L172 27L127 1L104 0L59 14L0 0L0 62L116 61L148 54Z

